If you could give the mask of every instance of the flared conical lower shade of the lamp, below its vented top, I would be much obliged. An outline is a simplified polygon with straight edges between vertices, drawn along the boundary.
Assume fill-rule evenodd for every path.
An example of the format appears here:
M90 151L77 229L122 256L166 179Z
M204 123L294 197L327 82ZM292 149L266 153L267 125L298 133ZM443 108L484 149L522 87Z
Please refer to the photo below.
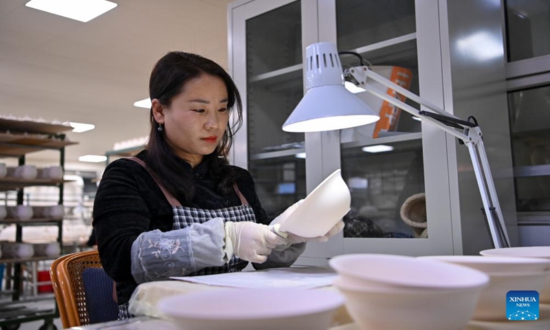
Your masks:
M380 117L344 85L309 89L292 111L283 131L319 132L376 122Z

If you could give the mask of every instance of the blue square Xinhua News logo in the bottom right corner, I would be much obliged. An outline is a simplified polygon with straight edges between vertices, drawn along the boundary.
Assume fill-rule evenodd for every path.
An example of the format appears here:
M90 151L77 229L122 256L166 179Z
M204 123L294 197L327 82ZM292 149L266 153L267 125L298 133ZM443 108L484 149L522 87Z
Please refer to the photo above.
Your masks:
M506 294L506 317L511 321L538 320L538 292L509 291Z

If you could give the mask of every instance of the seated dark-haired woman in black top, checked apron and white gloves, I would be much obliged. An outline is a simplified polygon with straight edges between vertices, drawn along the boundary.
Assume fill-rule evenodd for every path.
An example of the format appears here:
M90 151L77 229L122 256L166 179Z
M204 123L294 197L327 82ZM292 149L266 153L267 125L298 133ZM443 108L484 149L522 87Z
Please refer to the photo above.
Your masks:
M170 52L153 68L149 94L146 151L109 164L94 201L98 250L117 283L119 318L130 316L127 303L140 283L239 272L249 261L256 269L288 267L308 241L270 230L250 173L228 164L241 98L217 63Z

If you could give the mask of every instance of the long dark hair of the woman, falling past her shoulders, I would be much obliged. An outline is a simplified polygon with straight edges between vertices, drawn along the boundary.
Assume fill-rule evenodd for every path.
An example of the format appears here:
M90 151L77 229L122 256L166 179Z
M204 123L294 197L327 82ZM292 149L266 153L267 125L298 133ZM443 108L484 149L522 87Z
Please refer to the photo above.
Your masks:
M228 89L228 110L230 115L234 116L233 124L228 124L216 150L203 158L209 161L209 175L214 181L219 182L217 187L219 192L228 193L236 181L233 168L228 166L228 154L233 135L243 122L241 96L229 74L214 61L200 55L169 52L157 62L151 72L149 96L151 100L154 98L159 100L163 107L169 107L173 98L181 93L184 85L202 74L217 76L223 80ZM146 162L168 191L179 201L184 199L190 203L195 195L192 176L186 170L185 164L182 164L181 159L170 148L164 131L159 131L158 126L151 108L151 133L149 133Z

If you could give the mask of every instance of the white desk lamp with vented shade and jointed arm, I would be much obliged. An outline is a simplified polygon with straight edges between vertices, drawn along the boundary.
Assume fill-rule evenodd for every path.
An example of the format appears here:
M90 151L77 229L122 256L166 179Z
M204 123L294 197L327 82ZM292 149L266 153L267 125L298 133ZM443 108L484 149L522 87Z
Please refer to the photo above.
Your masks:
M483 217L495 248L510 246L503 213L498 203L496 188L489 168L483 135L475 118L461 120L445 112L428 100L413 94L390 80L360 65L342 71L338 50L333 43L314 43L307 46L304 62L307 92L283 124L287 132L317 132L347 129L371 124L380 119L378 114L344 87L344 76L355 85L369 91L425 122L437 126L467 146L474 166L476 181L483 201ZM428 109L417 110L388 95L372 84L371 79L392 89ZM489 210L489 212L486 212Z

